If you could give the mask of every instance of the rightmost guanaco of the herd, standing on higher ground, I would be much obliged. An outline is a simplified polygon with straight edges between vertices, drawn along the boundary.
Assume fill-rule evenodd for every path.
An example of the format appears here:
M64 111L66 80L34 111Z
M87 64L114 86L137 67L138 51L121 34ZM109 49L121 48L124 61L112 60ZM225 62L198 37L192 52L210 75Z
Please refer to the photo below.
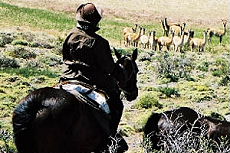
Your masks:
M227 31L227 20L222 20L222 24L223 24L222 30L208 28L208 36L209 36L208 41L209 42L212 42L212 37L216 36L216 37L220 38L220 44L222 43L223 36L225 35L225 33Z

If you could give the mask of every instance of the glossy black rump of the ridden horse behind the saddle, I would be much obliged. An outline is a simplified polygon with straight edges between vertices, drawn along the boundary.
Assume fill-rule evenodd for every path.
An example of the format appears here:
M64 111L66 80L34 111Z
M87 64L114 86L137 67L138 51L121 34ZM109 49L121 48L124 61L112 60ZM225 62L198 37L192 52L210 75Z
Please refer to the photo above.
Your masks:
M100 142L98 139L101 138L96 136L102 133L89 109L65 90L51 87L35 90L14 111L13 128L18 151L87 152L85 142ZM81 134L85 137L81 137Z

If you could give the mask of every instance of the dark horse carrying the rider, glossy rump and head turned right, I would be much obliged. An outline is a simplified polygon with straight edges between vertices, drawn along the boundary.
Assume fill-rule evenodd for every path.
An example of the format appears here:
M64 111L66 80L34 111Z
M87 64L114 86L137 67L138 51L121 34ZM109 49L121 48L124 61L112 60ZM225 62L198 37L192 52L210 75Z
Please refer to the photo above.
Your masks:
M131 56L115 54L116 67L122 67L125 76L121 78L126 79L117 83L132 101L138 96L137 49ZM109 117L86 104L84 96L76 97L62 88L41 88L26 96L14 111L15 144L19 153L102 152L110 141Z

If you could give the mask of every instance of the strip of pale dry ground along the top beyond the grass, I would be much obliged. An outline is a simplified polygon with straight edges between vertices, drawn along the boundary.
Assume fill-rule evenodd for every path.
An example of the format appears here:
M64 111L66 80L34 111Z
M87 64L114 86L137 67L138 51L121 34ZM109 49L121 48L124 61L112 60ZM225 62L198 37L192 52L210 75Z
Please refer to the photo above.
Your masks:
M230 21L230 0L3 0L21 6L75 12L84 2L93 2L104 9L106 17L133 22L170 22L221 26L221 19Z

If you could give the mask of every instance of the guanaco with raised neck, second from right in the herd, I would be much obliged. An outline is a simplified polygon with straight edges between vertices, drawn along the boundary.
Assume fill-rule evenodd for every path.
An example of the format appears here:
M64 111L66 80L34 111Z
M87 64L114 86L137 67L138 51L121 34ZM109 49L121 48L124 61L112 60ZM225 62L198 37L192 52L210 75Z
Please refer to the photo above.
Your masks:
M203 39L192 38L190 40L191 51L193 51L194 48L198 48L198 51L205 51L205 46L206 46L207 40L208 40L207 32L208 31L204 31Z

